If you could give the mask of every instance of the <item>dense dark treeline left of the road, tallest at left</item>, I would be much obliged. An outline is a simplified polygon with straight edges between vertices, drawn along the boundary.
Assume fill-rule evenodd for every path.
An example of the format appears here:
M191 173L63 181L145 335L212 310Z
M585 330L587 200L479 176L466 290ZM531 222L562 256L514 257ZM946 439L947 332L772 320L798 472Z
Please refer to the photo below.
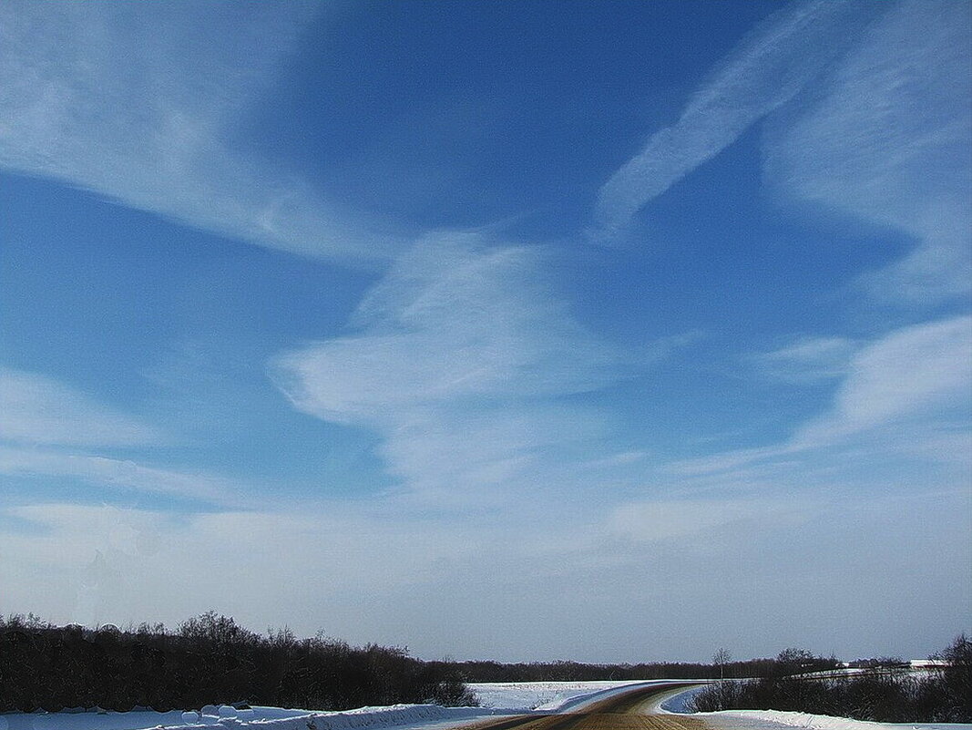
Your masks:
M0 712L475 703L446 663L420 661L397 647L355 647L320 635L297 639L286 628L255 634L212 611L175 631L161 624L86 629L0 616L0 688Z

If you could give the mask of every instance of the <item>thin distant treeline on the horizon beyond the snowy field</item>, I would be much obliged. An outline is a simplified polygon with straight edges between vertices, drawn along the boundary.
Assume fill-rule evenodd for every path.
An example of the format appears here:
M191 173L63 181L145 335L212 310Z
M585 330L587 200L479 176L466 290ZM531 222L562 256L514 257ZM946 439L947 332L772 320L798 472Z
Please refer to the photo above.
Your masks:
M770 677L835 669L834 657L814 656L805 649L786 649L774 659L748 659L725 664L652 662L642 664L581 664L578 662L460 662L454 665L463 678L485 681L598 681L625 679L714 679L719 677Z

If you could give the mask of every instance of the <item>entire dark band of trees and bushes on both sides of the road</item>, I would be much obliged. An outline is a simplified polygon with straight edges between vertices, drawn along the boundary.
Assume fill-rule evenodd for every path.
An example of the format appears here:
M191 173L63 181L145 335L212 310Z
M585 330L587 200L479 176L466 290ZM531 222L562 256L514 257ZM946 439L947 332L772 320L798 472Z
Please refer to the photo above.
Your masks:
M33 615L0 616L0 713L100 707L127 711L240 704L347 710L365 705L474 705L468 681L726 678L696 695L695 710L792 710L889 722L972 721L972 641L964 636L924 675L893 657L852 662L805 649L774 659L712 664L502 664L427 662L398 647L350 646L289 629L255 634L210 611L174 631L54 626ZM746 678L746 679L734 679Z

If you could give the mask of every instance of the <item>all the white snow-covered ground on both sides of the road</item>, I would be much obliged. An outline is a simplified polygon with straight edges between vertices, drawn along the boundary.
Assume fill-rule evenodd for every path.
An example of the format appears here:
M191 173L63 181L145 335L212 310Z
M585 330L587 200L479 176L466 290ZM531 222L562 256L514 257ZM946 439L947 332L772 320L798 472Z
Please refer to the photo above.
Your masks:
M578 710L634 684L650 682L510 682L470 685L482 707L442 708L435 705L396 705L362 708L345 713L311 710L206 707L202 713L9 713L0 714L0 730L445 730L488 715ZM658 712L680 713L695 690L668 697ZM699 713L723 730L957 730L972 724L888 724L860 722L842 717L773 711Z

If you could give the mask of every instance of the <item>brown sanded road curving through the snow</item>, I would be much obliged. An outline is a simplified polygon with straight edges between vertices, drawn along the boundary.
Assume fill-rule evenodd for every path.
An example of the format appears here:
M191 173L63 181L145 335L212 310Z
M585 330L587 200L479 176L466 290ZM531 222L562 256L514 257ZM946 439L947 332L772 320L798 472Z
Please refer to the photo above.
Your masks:
M613 695L574 712L520 714L462 727L463 730L705 730L709 726L696 717L649 713L659 695L685 686L693 685L654 684Z

